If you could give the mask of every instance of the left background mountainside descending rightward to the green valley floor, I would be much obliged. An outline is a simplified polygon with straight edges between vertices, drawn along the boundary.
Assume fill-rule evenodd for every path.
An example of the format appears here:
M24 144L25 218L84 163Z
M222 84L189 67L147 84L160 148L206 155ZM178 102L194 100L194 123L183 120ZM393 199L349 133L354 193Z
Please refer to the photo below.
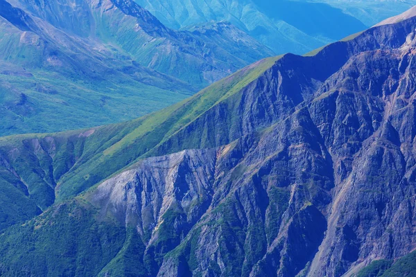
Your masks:
M0 5L2 135L128 120L194 91L189 84L122 59L98 43L71 37L5 1Z

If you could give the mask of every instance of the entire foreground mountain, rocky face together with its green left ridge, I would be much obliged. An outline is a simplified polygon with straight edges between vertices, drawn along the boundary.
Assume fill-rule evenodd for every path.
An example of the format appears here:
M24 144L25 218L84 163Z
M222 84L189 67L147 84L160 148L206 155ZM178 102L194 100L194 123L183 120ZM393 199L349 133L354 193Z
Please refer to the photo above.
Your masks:
M19 196L1 273L342 276L410 253L415 26L261 60L129 123L1 139Z

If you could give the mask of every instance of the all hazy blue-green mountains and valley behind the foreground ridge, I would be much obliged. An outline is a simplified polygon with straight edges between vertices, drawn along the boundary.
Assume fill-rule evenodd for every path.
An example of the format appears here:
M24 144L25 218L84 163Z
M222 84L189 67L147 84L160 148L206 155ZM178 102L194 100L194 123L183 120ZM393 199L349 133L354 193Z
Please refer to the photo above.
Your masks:
M340 1L137 3L0 0L0 135L143 116L263 57L306 53L361 31L360 20L376 7L367 1L358 10ZM383 1L374 14L409 5Z

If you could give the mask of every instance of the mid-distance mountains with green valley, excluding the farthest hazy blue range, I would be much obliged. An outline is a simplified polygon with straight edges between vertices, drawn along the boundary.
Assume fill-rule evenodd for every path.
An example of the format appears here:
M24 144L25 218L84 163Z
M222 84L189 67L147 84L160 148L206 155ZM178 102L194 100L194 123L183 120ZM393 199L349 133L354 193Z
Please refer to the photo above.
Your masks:
M131 120L272 55L229 24L175 31L129 1L10 3L0 1L3 136Z

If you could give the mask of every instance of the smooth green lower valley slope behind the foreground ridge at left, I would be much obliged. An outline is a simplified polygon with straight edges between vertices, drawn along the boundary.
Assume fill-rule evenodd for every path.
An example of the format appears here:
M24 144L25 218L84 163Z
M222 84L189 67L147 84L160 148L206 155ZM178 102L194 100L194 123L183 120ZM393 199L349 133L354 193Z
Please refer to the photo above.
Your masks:
M3 118L0 133L3 135L78 129L130 120L172 105L193 93L186 86L177 91L183 86L180 83L175 89L164 89L124 74L119 74L114 81L85 82L46 70L31 70L26 75L17 66L3 65L11 70L0 73L0 115Z

